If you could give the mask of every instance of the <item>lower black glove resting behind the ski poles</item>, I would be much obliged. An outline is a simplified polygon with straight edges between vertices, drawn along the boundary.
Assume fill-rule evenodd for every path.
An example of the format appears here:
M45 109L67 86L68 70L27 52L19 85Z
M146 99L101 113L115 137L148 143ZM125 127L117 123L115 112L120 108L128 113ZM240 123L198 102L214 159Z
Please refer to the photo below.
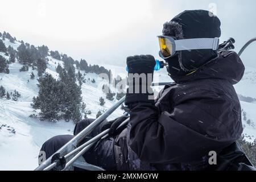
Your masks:
M112 120L112 121L108 121L108 122L105 123L104 126L102 126L101 131L105 131L106 129L110 129L110 130L109 130L109 135L110 135L110 136L118 135L118 134L121 133L127 126L124 125L124 126L122 126L122 127L119 127L118 129L117 129L117 127L118 127L119 125L121 125L121 123L122 123L123 121L125 121L127 118L129 118L129 117L126 116L126 115L123 115L123 116L121 116L121 117L119 117L119 118L116 118L116 119L114 119L114 120Z

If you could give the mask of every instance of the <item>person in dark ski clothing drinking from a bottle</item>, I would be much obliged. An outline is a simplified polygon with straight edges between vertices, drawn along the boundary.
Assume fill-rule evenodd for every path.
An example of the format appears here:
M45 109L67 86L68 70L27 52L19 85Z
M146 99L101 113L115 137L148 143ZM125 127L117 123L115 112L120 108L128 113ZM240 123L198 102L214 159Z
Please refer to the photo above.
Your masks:
M121 133L115 129L126 117L98 127L90 137L108 125L111 137L86 152L86 162L107 170L203 170L209 166L210 151L218 154L241 137L241 106L233 85L241 80L245 67L236 52L214 48L221 36L220 25L217 16L205 10L184 11L164 23L163 35L158 37L159 55L175 82L164 86L155 100L147 86L152 82L154 57L127 57L125 104L130 122ZM201 43L193 42L196 39ZM174 40L184 40L176 45L182 51L175 52ZM208 47L209 40L213 48ZM189 48L195 45L199 48ZM136 83L131 77L135 73L146 74L146 82ZM134 92L136 86L139 89ZM74 134L92 121L77 123ZM72 137L53 137L41 150L48 158Z

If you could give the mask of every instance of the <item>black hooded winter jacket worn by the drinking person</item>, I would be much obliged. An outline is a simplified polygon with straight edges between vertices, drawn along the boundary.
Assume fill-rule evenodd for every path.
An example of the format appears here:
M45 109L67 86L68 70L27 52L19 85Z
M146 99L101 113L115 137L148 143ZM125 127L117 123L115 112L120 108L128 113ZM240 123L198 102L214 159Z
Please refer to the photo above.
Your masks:
M242 134L233 85L245 68L236 52L222 52L197 72L174 78L155 100L130 105L130 122L115 139L118 169L200 170Z

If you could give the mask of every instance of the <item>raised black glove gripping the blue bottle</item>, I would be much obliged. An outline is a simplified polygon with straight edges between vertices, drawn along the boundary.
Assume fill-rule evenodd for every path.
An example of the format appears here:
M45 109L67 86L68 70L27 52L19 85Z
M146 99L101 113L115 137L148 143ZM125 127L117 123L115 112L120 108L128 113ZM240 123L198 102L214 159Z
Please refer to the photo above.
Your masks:
M151 55L130 56L126 60L128 68L129 88L126 92L125 104L145 101L154 104L154 93L150 87L153 81L155 58ZM138 73L138 75L135 75ZM144 74L144 75L141 75Z

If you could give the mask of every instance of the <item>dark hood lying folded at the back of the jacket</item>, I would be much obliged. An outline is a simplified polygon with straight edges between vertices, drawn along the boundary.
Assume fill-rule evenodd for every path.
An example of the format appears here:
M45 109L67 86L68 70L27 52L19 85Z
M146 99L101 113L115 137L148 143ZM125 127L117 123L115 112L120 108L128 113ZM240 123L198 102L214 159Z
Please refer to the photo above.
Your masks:
M208 78L228 80L237 84L243 77L245 66L242 60L234 51L218 53L218 57L198 69L195 73L185 76L171 76L177 84Z

